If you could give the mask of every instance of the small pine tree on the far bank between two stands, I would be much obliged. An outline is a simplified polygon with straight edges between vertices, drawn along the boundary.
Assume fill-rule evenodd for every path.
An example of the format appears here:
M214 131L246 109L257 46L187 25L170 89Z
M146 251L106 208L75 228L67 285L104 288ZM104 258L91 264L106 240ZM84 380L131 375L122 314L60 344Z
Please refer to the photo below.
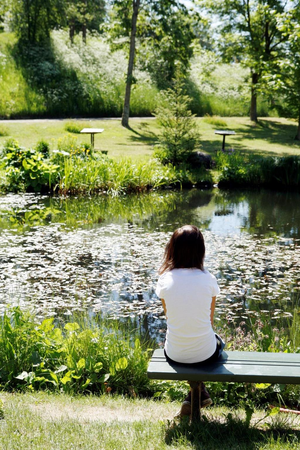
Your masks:
M185 162L199 144L195 114L188 109L190 97L184 94L183 80L176 77L173 88L161 91L155 115L162 134L155 156L163 163Z

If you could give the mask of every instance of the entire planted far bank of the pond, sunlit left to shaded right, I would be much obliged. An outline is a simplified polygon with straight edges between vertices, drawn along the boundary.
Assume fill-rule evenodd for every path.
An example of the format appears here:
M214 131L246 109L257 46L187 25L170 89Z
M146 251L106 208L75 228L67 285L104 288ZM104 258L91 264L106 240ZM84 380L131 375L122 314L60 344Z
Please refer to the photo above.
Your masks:
M22 148L9 140L0 155L0 192L112 194L158 188L270 187L299 190L300 156L263 157L258 154L217 152L210 168L187 162L161 164L152 158L134 163L94 153L89 144L61 139L58 149L40 141Z

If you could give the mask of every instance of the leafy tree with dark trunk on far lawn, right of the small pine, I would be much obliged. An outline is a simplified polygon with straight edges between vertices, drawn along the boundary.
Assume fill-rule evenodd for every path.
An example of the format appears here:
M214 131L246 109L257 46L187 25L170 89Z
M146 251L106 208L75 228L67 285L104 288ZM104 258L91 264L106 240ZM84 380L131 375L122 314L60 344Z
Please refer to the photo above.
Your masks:
M202 4L219 15L219 47L224 59L235 61L238 58L251 70L250 115L256 121L256 96L258 91L264 93L263 75L271 69L274 58L286 54L288 33L282 29L282 21L288 17L293 2L255 0L249 5L242 0L207 0Z

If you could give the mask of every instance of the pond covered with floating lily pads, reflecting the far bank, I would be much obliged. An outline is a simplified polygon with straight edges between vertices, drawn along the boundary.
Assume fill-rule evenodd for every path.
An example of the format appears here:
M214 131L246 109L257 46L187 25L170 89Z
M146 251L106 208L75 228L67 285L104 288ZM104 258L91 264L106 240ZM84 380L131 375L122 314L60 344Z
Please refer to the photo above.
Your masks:
M288 317L300 287L300 194L156 191L127 197L0 197L0 307L37 315L88 309L164 328L154 292L170 234L197 225L218 279L216 320Z

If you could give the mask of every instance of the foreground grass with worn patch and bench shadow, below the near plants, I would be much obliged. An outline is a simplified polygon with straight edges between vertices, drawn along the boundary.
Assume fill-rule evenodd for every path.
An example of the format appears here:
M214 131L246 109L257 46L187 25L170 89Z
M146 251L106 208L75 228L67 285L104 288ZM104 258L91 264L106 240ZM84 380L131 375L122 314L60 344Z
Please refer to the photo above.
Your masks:
M5 450L296 450L299 416L245 424L243 410L209 408L200 425L170 428L179 403L47 392L0 394L0 448ZM229 414L229 415L228 415ZM296 419L295 419L296 418Z

